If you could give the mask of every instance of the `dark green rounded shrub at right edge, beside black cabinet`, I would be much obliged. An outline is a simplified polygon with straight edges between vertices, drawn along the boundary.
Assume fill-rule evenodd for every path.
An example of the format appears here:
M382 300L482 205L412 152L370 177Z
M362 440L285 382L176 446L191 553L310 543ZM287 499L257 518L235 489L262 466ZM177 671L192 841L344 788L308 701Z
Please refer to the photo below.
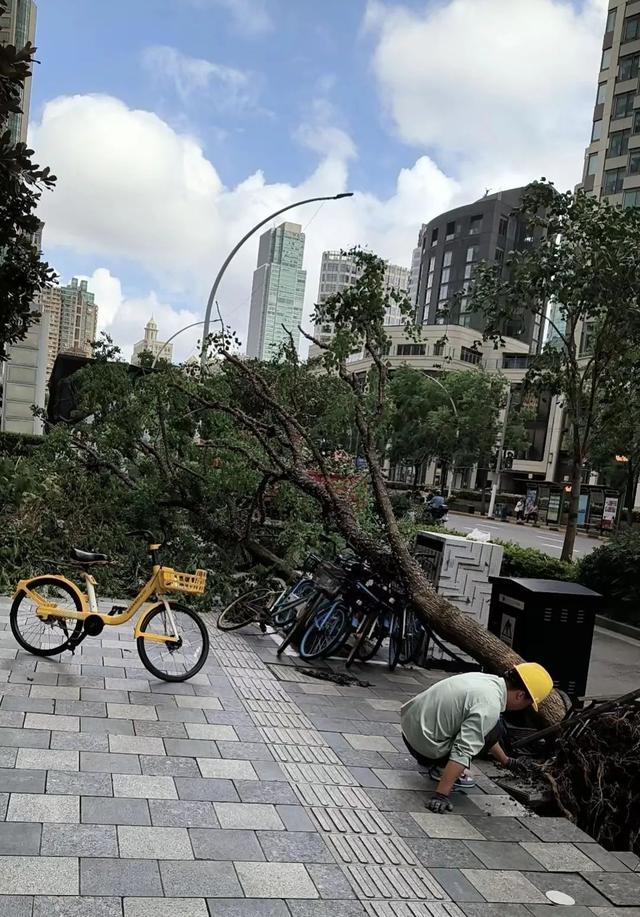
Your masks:
M640 624L639 561L640 532L624 532L578 562L578 582L602 593L610 617Z

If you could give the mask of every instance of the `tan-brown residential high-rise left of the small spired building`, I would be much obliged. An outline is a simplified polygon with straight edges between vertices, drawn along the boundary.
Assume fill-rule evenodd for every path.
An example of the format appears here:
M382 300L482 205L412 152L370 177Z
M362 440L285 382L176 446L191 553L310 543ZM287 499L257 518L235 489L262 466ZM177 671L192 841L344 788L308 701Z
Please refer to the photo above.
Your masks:
M47 375L59 353L90 357L96 339L98 306L86 280L74 277L63 287L48 287L35 296L35 305L49 316Z

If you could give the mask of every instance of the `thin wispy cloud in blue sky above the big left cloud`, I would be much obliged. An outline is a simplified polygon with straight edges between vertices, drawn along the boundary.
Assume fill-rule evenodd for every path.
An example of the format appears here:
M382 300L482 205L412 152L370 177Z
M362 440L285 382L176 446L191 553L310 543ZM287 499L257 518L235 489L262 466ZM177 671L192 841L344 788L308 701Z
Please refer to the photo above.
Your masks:
M169 83L183 105L207 102L220 111L239 112L255 106L255 74L226 67L199 57L189 57L168 45L146 48L142 62L157 83Z

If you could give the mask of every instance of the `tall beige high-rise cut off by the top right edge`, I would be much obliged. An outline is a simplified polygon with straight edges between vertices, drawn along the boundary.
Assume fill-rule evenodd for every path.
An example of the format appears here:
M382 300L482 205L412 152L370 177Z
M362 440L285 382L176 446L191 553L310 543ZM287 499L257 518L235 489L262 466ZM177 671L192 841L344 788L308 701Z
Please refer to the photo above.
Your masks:
M609 0L582 187L640 207L640 3Z

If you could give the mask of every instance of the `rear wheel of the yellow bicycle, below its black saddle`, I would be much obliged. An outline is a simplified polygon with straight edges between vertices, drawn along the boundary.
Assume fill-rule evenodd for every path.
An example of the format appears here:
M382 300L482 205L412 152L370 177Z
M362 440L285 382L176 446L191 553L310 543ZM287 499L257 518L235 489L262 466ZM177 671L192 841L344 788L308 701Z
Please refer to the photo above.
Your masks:
M29 580L29 588L47 604L58 605L69 611L82 611L82 603L76 592L55 577L36 577ZM80 635L82 621L73 618L49 618L43 621L36 614L36 608L36 603L26 592L18 593L9 612L13 636L23 649L34 656L62 653L69 642Z

